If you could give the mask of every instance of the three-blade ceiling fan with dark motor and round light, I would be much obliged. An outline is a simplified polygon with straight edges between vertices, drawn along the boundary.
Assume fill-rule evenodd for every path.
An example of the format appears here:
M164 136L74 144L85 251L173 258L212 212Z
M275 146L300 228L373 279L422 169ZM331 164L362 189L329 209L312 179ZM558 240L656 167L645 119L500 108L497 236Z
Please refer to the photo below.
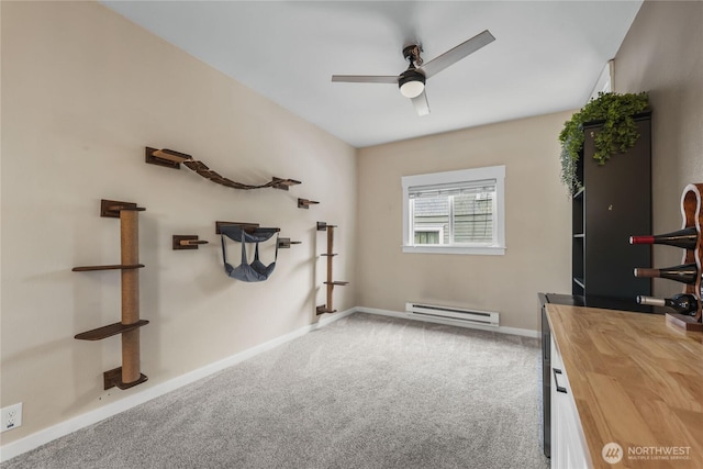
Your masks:
M429 104L427 104L427 94L425 93L425 80L493 41L495 41L495 37L486 30L424 65L423 59L420 57L422 48L416 44L412 44L403 48L403 57L410 62L410 65L405 71L397 77L379 75L333 75L332 81L398 83L401 94L410 98L417 115L426 115L429 114Z

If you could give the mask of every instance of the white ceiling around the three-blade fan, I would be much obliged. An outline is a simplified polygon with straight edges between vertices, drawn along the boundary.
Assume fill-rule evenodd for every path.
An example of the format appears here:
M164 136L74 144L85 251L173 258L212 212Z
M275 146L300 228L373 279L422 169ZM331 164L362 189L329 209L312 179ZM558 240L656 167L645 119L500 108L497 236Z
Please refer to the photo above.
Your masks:
M112 10L355 147L581 108L637 1L104 1ZM427 81L417 116L394 85L483 30L495 41Z

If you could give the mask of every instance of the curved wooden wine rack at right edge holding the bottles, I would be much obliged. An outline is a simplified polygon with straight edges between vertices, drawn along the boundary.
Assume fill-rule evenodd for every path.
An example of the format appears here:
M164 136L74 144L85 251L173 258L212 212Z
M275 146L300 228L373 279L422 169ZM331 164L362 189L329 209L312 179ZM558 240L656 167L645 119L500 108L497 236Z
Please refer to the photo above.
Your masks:
M685 249L683 253L683 264L695 264L698 275L694 284L687 284L683 293L689 293L698 299L698 310L694 316L687 316L676 313L667 313L667 322L677 325L685 331L703 332L701 322L701 275L703 273L703 183L688 185L681 194L681 216L683 217L683 228L695 226L698 242L694 249Z

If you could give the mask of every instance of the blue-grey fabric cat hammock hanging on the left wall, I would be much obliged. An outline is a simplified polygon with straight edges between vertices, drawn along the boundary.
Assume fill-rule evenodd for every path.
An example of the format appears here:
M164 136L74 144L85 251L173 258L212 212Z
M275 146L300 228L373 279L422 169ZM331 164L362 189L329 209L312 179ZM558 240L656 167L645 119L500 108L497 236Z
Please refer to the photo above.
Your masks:
M228 277L246 282L258 282L267 280L274 273L274 269L276 269L276 260L278 260L278 228L256 228L254 232L247 233L239 226L232 225L221 226L220 233L220 238L222 241L222 260L224 261L224 271ZM276 257L271 264L266 266L259 260L259 243L270 239L275 234L277 235ZM232 241L242 243L242 264L236 267L233 267L227 263L225 236ZM252 264L248 264L248 259L246 257L246 243L256 243L254 261L252 261Z

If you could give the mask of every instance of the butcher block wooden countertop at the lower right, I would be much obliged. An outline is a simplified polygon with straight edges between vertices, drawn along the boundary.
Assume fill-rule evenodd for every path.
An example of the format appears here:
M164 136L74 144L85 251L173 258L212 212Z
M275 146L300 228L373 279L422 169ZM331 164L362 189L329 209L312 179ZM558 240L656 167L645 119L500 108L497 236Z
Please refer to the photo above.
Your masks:
M547 304L547 317L594 467L703 468L703 333L595 308Z

